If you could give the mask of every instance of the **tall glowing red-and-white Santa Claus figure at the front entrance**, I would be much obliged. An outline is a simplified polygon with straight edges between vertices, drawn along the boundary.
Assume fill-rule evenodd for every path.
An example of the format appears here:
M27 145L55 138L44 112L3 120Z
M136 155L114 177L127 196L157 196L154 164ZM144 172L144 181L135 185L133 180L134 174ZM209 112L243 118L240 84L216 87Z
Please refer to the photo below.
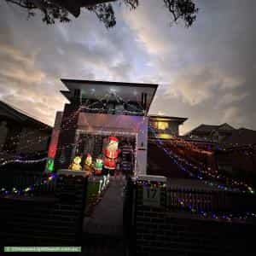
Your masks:
M109 143L104 150L104 168L108 170L114 170L116 167L116 161L120 153L119 139L117 137L108 137Z

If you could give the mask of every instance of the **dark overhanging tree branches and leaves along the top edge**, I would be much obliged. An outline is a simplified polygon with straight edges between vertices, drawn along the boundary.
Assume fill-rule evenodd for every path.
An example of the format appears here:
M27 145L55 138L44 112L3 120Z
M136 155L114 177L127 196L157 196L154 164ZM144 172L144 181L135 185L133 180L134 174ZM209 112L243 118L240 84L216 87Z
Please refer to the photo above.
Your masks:
M87 9L96 14L104 25L109 28L116 24L116 18L111 2L124 3L130 9L137 9L140 0L4 0L27 9L28 17L36 15L39 9L43 14L46 24L54 24L55 20L69 22L69 15L79 17L80 9ZM189 27L196 18L198 9L194 0L161 0L166 9L171 13L172 22L183 20L184 25Z

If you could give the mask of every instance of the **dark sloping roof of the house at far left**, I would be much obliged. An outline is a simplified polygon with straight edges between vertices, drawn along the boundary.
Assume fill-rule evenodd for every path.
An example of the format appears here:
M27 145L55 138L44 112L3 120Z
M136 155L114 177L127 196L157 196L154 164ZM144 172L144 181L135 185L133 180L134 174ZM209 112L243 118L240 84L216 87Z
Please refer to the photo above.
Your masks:
M24 110L20 110L19 108L16 108L15 106L7 102L0 101L0 108L4 110L4 112L6 113L6 116L8 116L11 119L15 119L20 123L27 123L30 125L35 125L37 127L44 127L49 130L52 129L51 126L44 124L38 119L33 118L31 114L28 114Z

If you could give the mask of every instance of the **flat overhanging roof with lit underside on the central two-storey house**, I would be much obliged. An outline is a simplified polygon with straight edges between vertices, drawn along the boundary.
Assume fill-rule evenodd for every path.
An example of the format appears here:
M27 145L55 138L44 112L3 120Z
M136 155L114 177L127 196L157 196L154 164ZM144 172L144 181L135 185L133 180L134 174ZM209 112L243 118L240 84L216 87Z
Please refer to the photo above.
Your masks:
M138 83L123 83L109 81L90 81L79 79L61 79L61 82L66 85L68 90L61 90L61 93L72 101L73 91L80 90L81 95L90 96L90 99L101 100L104 96L115 92L125 102L142 101L142 94L147 93L146 113L154 99L154 94L158 84L138 84Z

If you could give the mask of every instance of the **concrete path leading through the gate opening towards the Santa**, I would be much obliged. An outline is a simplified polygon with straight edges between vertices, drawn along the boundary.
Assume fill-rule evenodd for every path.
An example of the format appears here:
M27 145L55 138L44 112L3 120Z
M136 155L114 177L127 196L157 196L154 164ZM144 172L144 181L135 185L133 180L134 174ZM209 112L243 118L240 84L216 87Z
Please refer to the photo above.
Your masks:
M108 190L91 218L84 218L82 256L125 255L123 239L123 188L125 177L111 177Z

